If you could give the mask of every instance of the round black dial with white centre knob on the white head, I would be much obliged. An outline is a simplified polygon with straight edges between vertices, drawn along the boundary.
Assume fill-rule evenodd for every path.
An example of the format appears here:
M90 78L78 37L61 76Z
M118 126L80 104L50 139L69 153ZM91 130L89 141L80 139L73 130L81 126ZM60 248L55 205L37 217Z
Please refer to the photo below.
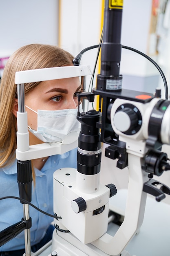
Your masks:
M142 125L139 109L132 104L122 104L113 117L115 128L127 135L136 134Z

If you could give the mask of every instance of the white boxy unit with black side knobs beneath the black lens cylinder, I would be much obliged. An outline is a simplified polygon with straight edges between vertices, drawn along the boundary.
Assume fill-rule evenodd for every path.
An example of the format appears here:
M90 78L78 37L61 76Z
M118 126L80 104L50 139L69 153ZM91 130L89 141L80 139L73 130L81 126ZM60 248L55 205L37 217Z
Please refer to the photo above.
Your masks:
M76 174L74 168L63 168L54 174L54 213L62 216L59 223L57 220L54 223L87 244L107 231L110 190L97 184L93 193L82 192L78 189Z

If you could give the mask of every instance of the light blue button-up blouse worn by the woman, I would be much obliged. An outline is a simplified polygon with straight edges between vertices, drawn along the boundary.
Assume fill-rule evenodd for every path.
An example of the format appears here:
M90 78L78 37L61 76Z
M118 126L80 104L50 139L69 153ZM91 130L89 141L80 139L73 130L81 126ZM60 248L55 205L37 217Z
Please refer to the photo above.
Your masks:
M41 171L35 168L36 184L32 185L31 203L38 208L53 214L53 173L64 167L76 168L77 148L62 155L50 156ZM19 196L17 183L16 161L7 168L0 169L0 197ZM46 233L53 218L40 213L30 206L31 246L40 242ZM23 218L23 205L20 200L0 200L0 231L21 221ZM24 231L11 241L2 245L0 251L24 249Z

